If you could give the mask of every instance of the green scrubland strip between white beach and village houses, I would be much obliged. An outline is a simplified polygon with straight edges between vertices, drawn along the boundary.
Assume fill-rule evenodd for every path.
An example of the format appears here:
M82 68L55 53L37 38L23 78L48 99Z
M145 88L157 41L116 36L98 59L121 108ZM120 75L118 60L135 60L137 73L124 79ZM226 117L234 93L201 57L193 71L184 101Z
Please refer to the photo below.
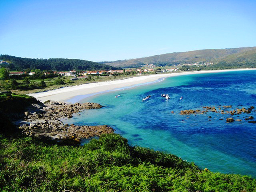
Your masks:
M73 76L59 76L58 74L54 74L52 71L40 71L38 69L31 71L36 72L36 74L12 75L0 80L0 90L12 90L12 92L28 94L31 92L42 92L45 90L61 88L63 86L124 79L136 75L135 72L126 72L124 75L120 73L116 73L113 76L89 75L86 79L78 78L77 80L71 80L71 78L74 78Z

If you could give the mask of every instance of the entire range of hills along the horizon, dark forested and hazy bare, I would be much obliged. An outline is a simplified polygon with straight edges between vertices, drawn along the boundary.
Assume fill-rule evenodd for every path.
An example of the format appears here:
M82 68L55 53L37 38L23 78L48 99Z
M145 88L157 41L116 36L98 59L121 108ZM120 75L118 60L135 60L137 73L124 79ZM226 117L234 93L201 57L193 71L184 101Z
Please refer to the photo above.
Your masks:
M194 62L213 62L243 64L250 62L256 64L256 47L241 47L231 49L204 49L188 52L174 52L150 57L129 60L118 60L111 62L92 62L80 59L31 59L10 55L0 55L0 60L10 61L9 64L1 64L10 70L24 70L26 68L40 70L120 70L128 67L141 67L145 65L168 66L175 64L192 64ZM238 65L239 66L239 65Z

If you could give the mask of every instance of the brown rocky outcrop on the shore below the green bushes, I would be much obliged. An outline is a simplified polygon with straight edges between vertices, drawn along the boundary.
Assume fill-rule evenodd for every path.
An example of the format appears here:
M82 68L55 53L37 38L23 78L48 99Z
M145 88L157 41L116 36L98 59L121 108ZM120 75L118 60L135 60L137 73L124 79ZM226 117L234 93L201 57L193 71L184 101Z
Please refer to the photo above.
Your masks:
M24 113L24 124L18 128L29 136L37 138L52 138L56 140L90 138L105 133L112 133L114 129L107 125L87 126L63 124L61 118L72 118L72 114L84 109L96 109L103 106L96 103L67 104L65 102L48 101L45 104L29 106Z

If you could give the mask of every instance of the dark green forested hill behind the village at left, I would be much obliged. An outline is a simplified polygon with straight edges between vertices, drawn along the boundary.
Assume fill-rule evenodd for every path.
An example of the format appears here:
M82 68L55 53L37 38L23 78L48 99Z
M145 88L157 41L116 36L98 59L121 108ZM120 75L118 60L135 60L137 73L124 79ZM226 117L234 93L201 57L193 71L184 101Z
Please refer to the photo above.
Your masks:
M10 64L2 67L10 70L40 69L40 70L118 70L119 68L92 61L80 59L30 59L10 55L0 55L1 60L8 60Z

